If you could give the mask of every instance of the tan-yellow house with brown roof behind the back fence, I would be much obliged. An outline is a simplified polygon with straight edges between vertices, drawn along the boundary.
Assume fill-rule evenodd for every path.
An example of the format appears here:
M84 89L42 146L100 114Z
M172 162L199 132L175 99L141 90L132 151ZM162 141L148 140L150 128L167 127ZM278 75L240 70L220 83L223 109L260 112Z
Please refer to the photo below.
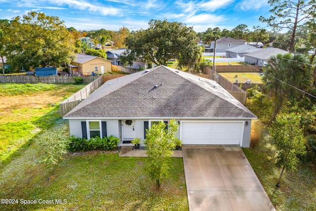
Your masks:
M68 65L70 74L94 75L112 72L111 61L98 56L77 54L77 59Z

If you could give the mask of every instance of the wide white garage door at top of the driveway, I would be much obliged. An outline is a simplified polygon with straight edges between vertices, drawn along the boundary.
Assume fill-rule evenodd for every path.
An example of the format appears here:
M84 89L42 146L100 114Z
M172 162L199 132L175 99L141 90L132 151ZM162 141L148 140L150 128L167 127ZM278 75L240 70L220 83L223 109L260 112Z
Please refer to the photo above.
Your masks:
M239 145L243 122L182 122L183 144Z

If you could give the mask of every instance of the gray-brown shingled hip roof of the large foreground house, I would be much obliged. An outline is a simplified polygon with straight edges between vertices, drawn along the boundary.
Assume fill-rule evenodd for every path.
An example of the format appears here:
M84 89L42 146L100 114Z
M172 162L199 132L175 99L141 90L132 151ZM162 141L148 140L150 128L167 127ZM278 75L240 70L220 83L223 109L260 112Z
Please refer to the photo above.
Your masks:
M64 118L255 119L256 116L216 82L158 66L107 81Z

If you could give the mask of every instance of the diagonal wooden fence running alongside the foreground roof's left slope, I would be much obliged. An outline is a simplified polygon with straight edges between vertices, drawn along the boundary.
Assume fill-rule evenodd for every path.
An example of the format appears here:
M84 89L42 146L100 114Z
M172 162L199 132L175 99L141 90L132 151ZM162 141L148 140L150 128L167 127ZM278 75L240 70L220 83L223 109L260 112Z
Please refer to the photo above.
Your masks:
M87 98L95 89L99 88L102 83L102 77L98 77L96 80L81 88L72 96L68 97L66 100L59 104L59 112L63 117L73 108L75 108L82 100Z

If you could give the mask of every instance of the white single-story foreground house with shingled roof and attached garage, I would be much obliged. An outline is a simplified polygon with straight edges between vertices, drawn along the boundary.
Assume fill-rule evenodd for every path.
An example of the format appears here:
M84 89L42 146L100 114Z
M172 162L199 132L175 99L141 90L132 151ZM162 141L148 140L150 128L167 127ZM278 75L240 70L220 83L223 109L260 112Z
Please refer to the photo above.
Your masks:
M183 144L249 147L256 116L216 82L165 66L107 81L63 117L76 137L142 141L146 129L171 119Z

